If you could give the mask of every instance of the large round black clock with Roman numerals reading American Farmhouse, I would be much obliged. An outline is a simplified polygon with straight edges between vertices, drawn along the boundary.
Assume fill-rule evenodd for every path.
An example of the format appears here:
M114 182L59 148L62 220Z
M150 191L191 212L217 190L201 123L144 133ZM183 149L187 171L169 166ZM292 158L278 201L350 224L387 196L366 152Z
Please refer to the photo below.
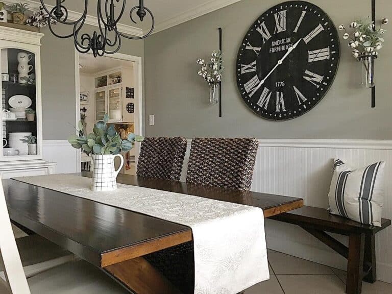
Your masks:
M239 48L237 86L253 112L287 120L312 109L329 90L339 64L339 37L328 15L289 1L253 23Z

